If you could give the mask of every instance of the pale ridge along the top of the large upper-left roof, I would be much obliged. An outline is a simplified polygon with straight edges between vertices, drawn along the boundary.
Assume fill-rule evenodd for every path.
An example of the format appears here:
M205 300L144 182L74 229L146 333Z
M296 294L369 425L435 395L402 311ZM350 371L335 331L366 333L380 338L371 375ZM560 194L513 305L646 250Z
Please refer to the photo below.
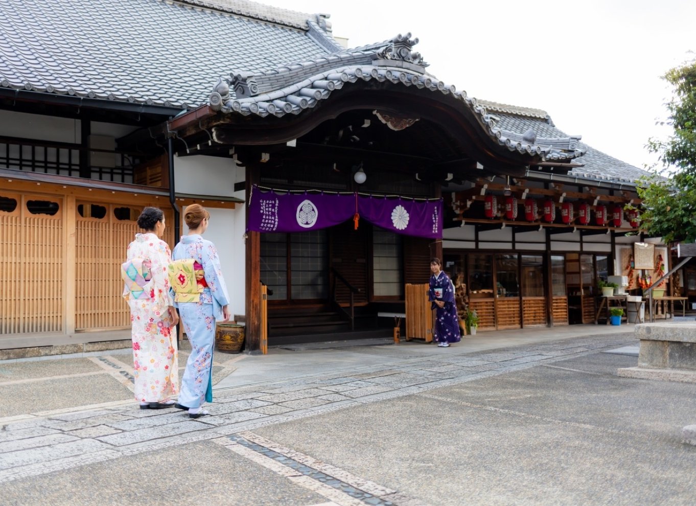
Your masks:
M166 0L165 0L166 1ZM226 13L237 14L260 21L267 21L301 30L309 30L309 19L313 17L327 18L325 14L301 13L297 10L273 7L251 0L169 0L174 3L187 4L189 6L205 7L212 10L220 10Z

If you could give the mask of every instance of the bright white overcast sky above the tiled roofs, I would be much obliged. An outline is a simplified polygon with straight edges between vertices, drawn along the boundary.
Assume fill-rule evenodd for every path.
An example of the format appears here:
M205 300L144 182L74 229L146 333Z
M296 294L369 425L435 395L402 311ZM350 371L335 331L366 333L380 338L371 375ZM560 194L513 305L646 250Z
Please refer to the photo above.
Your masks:
M349 47L411 32L427 71L469 97L546 111L556 127L633 166L671 90L661 76L693 58L696 1L259 0L330 14Z

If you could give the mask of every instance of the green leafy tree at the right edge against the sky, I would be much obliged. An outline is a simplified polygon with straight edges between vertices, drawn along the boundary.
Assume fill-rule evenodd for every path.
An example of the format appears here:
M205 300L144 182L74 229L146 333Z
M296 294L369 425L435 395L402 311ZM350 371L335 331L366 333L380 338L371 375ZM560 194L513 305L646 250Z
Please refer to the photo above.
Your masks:
M641 228L663 237L665 244L696 242L696 58L670 69L663 79L674 88L663 124L674 131L666 140L647 143L662 166L638 180Z

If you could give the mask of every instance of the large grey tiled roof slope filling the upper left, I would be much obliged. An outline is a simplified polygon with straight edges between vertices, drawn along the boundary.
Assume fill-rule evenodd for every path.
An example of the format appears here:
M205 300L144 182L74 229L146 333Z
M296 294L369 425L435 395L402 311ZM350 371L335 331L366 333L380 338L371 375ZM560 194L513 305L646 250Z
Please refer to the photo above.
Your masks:
M2 0L0 87L184 109L231 68L338 50L328 29L251 1Z

